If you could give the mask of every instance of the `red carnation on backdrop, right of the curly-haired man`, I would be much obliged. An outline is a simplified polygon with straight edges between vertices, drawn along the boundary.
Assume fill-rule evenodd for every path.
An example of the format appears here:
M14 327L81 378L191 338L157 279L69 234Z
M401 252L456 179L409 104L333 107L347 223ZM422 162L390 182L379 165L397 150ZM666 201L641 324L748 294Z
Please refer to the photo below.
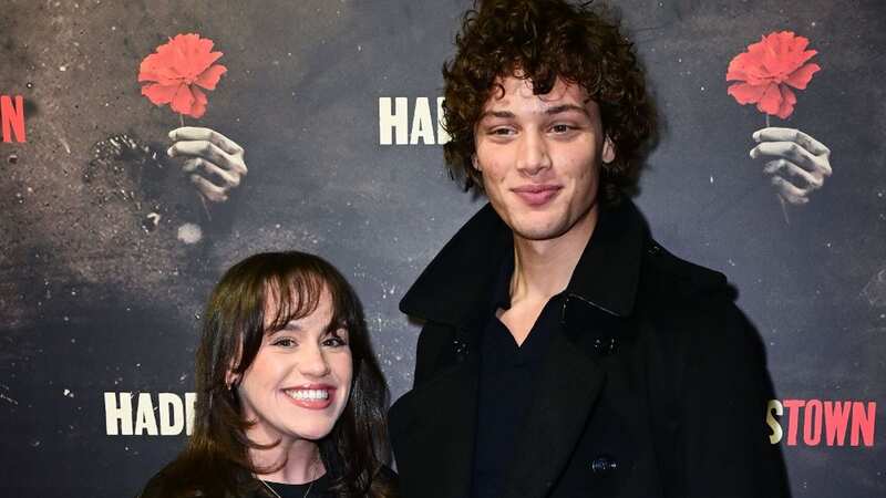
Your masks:
M806 50L810 41L791 31L773 32L729 63L727 81L739 81L727 92L739 104L756 104L761 113L786 118L794 112L796 95L791 90L805 90L821 68L806 64L816 51Z

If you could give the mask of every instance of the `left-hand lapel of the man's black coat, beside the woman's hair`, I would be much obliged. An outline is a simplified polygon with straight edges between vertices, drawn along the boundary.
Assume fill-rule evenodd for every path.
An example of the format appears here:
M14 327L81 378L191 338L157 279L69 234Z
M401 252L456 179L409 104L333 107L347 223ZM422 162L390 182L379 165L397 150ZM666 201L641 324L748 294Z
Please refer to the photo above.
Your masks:
M464 498L471 494L480 362L468 355L391 408L391 436L403 496Z

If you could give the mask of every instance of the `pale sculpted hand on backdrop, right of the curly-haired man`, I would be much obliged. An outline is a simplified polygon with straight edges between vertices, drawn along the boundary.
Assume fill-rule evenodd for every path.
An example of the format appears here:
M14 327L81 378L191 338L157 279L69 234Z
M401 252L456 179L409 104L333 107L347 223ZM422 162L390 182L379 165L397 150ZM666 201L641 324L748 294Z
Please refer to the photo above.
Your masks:
M751 149L751 157L766 159L763 174L790 204L808 203L808 195L822 188L833 172L831 149L800 129L766 127L754 132L753 138L759 145Z

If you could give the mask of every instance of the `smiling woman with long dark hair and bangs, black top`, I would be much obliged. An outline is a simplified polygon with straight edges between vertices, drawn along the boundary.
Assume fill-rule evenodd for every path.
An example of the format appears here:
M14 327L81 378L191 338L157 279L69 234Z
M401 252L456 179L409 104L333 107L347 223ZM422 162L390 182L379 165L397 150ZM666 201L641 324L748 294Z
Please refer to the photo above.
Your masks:
M216 286L194 434L143 498L390 497L388 388L353 289L302 252L251 256Z

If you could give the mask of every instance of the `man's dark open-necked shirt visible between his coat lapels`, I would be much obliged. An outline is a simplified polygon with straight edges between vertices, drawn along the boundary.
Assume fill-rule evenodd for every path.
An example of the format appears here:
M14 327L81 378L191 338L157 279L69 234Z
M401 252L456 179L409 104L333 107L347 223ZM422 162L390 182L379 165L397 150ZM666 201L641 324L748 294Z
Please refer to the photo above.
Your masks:
M502 264L481 338L477 433L471 485L474 498L499 495L533 394L539 388L534 385L536 373L552 335L560 326L562 297L555 295L542 310L523 344L517 345L511 331L496 315L497 310L511 308L513 272L512 256Z

